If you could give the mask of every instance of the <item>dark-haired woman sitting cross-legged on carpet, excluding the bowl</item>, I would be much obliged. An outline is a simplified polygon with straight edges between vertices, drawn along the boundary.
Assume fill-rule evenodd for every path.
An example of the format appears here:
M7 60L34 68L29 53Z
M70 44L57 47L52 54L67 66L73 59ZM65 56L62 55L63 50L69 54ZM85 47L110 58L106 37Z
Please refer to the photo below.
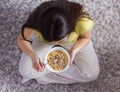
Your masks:
M39 83L75 83L95 80L99 64L91 37L93 20L83 7L70 1L48 1L38 6L19 33L17 42L22 54L19 71L22 83L36 79ZM44 55L54 45L70 54L70 68L53 73L44 66Z

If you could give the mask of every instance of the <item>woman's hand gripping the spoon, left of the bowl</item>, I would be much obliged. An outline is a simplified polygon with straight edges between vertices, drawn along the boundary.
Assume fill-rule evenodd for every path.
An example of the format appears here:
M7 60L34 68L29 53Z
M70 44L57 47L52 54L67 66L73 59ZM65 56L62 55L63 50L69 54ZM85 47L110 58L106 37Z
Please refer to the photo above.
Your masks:
M31 55L32 67L38 72L42 72L44 69L44 64L41 62L40 58L34 53Z

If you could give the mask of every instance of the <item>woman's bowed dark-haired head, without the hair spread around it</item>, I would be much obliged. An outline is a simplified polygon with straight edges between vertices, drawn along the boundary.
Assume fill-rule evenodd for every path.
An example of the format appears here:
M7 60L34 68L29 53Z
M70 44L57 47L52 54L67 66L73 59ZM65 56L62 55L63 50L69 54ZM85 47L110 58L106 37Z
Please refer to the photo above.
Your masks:
M52 7L41 18L40 32L47 41L59 41L71 33L68 13L59 7Z

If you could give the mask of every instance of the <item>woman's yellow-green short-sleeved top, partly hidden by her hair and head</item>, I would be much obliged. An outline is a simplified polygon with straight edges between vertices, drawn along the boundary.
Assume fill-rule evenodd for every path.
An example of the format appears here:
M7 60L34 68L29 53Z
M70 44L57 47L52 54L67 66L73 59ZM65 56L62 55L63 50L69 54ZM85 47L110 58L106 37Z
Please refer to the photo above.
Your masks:
M79 18L76 23L75 30L73 32L71 32L68 39L65 42L62 42L61 44L70 44L70 43L76 41L77 38L81 34L87 32L87 31L90 31L91 28L93 27L93 25L94 25L94 22L89 17ZM38 36L38 38L41 41L44 41L42 34L36 30L34 30L34 31L35 31L36 35Z

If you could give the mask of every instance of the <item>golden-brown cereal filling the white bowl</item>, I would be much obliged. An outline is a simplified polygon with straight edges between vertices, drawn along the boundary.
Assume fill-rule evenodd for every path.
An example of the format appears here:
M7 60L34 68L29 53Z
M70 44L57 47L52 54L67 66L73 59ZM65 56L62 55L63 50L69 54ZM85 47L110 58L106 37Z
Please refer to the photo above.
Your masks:
M51 51L47 57L48 64L56 71L63 70L68 64L68 57L61 50Z

